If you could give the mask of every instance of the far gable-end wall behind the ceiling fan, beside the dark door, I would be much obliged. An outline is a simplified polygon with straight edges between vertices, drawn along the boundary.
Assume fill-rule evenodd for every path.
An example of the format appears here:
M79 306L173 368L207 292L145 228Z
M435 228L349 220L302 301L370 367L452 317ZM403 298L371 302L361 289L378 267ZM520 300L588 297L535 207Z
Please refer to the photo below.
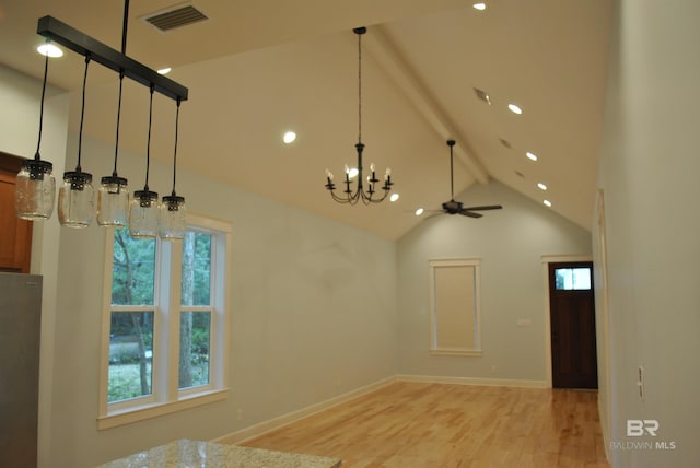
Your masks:
M399 241L399 372L544 385L548 290L542 256L590 255L591 234L498 182L472 186L457 199L504 209L478 220L438 214ZM479 358L429 354L428 260L445 258L482 261ZM532 326L518 327L520 318Z

